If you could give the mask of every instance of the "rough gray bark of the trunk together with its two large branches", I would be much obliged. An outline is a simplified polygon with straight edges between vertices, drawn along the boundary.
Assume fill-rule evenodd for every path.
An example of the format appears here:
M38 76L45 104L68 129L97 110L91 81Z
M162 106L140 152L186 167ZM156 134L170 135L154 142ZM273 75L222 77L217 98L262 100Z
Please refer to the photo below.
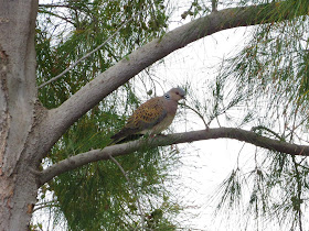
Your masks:
M87 153L89 156L81 154L39 172L42 158L54 143L102 99L149 65L201 37L230 28L268 23L267 13L270 11L273 20L276 14L278 21L284 20L279 7L266 4L226 9L180 26L100 74L61 107L46 110L38 101L35 86L34 29L38 0L0 0L0 231L28 230L38 188L54 176L104 160L102 155L128 154L139 147L125 144L92 151ZM202 132L204 136L198 132L193 136L187 134L187 139L190 139L182 142L219 138L242 140L244 136L239 132ZM185 136L177 138L180 140L175 143ZM164 138L158 139L153 145L170 143ZM266 148L286 145L275 141L270 142L273 147L269 147L269 143L265 144L260 139L256 139L256 142L253 144ZM294 147L302 148L287 145L287 148ZM307 152L309 147L303 148Z

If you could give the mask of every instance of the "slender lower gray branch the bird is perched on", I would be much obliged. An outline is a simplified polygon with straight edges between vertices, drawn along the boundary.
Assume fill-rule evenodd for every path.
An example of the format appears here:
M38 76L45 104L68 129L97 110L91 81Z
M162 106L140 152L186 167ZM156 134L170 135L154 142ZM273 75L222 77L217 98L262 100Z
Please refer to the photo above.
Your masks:
M51 180L53 177L62 173L72 170L92 162L109 160L109 156L126 155L138 151L145 147L146 145L148 148L150 148L156 146L166 146L170 144L223 138L244 141L256 146L281 153L287 153L290 155L309 156L309 146L306 145L297 145L269 138L264 138L256 134L255 132L242 129L219 128L193 132L175 133L166 136L157 135L153 139L132 141L125 144L106 146L103 150L93 150L86 153L82 153L66 158L64 161L61 161L57 164L54 164L53 166L43 170L40 177L40 183L43 185L44 183Z

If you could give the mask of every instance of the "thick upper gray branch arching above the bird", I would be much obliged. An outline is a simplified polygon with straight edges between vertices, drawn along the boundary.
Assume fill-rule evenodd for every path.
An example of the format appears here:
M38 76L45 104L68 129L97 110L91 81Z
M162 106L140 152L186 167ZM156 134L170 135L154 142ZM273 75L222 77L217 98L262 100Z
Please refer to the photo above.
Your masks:
M308 13L308 12L303 12ZM294 14L294 16L297 16ZM50 111L45 125L54 131L50 147L83 114L154 62L201 37L226 29L283 21L280 3L231 8L213 12L156 38L98 75L61 107ZM42 158L44 156L38 156Z

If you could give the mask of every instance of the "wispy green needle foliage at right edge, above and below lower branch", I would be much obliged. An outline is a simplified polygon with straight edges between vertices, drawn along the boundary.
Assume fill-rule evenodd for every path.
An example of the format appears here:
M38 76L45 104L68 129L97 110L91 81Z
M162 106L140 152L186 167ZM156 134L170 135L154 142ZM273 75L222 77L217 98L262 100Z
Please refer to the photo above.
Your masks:
M274 23L254 29L246 47L225 63L213 95L224 92L220 105L226 98L239 99L234 106L247 112L241 127L278 141L305 143L309 20L298 15L308 12L309 2L287 0L276 6L280 22L274 18ZM271 19L271 11L265 16ZM216 197L220 211L253 217L256 227L276 220L283 229L301 229L309 195L307 160L257 152L252 161L253 166L237 166L222 184Z

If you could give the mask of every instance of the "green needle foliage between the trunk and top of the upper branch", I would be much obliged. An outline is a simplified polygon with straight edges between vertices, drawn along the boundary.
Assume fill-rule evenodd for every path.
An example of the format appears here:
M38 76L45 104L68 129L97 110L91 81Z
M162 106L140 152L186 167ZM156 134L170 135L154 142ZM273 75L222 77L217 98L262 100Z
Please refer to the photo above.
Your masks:
M95 76L138 46L164 32L168 15L162 1L63 1L40 7L36 29L38 86L61 74L107 41L60 80L39 91L55 108Z

